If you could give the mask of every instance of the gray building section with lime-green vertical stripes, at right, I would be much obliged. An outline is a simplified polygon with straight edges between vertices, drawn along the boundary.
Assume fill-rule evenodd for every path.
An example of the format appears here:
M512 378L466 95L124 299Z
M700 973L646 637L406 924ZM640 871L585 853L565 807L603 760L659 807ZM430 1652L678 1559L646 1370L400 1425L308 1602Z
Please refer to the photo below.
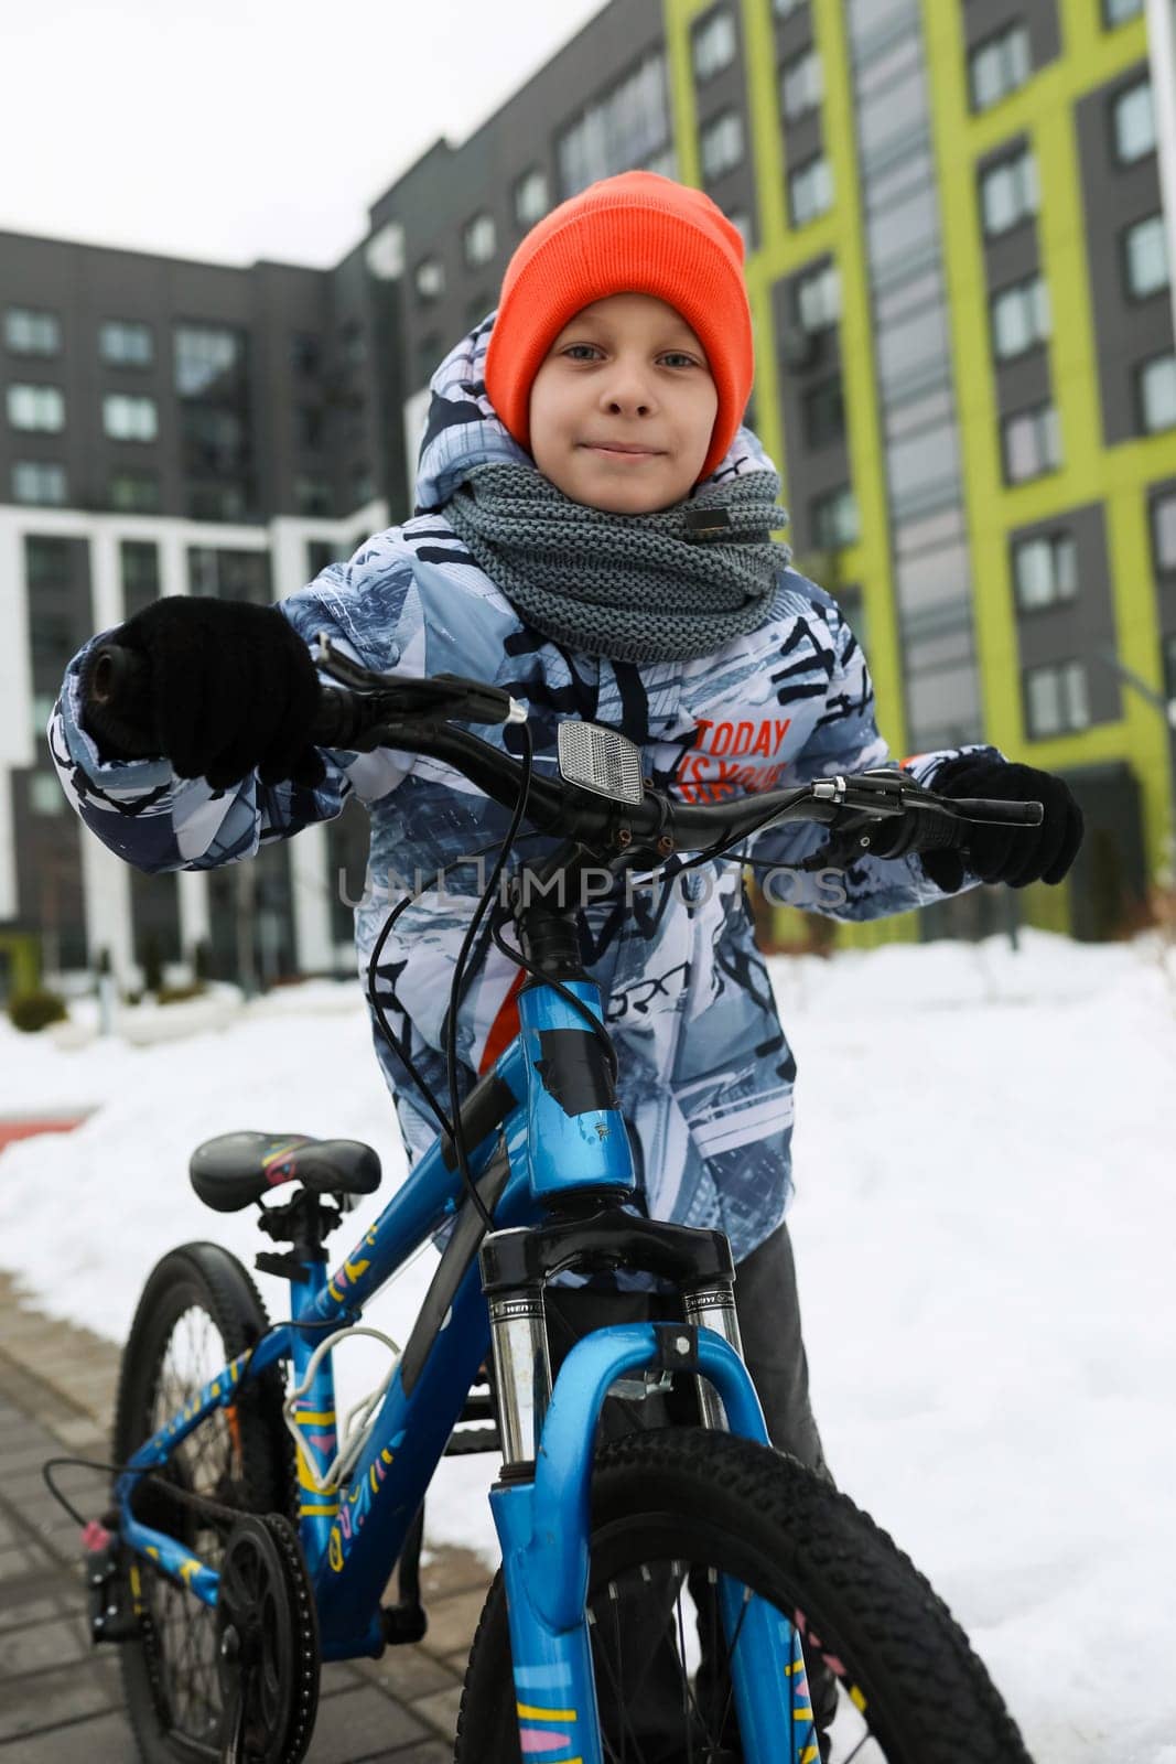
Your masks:
M666 4L682 176L751 245L792 543L853 609L896 751L984 739L1070 778L1086 850L1026 905L1083 935L1128 921L1171 827L1171 0L1151 14Z

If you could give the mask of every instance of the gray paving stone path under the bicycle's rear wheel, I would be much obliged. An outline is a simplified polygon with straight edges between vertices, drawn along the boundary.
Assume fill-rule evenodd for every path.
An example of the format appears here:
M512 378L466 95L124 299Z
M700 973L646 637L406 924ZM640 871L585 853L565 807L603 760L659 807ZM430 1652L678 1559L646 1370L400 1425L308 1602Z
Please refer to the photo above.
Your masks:
M85 1621L78 1526L41 1476L48 1457L106 1459L118 1349L19 1302L0 1272L0 1764L134 1764L116 1649ZM58 1475L86 1515L93 1471ZM448 1764L487 1570L441 1547L421 1568L428 1635L383 1660L323 1669L307 1764ZM391 1596L391 1593L390 1593Z

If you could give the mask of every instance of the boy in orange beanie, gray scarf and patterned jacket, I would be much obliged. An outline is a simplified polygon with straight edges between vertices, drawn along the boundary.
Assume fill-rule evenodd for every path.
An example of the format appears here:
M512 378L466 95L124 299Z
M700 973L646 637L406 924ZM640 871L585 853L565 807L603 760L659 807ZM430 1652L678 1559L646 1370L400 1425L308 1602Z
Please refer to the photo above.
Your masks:
M497 312L434 376L413 520L280 609L173 598L122 626L116 640L150 665L157 744L90 702L93 646L71 663L51 744L83 820L143 870L208 868L330 818L356 792L377 886L501 836L506 813L444 766L307 748L317 630L374 669L508 686L527 702L540 762L564 716L621 727L654 783L686 799L882 764L862 653L770 540L786 515L741 429L751 379L742 242L709 198L638 171L555 208L515 252ZM947 794L1040 797L1044 824L977 833L968 877L957 854L869 857L846 873L839 916L901 912L964 880L1067 873L1081 815L1060 780L991 748L922 755L912 771ZM822 838L769 829L756 856L795 863ZM448 886L473 893L474 875ZM804 887L792 898L825 905L815 877ZM361 968L384 914L386 901L356 912ZM437 1092L465 924L451 894L423 896L381 968L384 1005ZM795 1064L739 866L688 873L651 901L638 891L631 910L598 901L580 931L621 1044L644 1203L728 1233L769 1431L822 1468L783 1224ZM483 940L458 1018L471 1080L515 1030L515 983ZM416 1157L435 1122L376 1046Z

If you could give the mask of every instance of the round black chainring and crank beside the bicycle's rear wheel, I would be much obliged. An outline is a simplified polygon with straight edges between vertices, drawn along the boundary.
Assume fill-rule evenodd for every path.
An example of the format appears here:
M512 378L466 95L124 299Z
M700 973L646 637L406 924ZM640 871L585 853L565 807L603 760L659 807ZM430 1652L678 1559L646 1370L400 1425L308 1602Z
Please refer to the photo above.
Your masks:
M298 1764L319 1708L319 1623L298 1535L242 1514L220 1563L220 1764Z

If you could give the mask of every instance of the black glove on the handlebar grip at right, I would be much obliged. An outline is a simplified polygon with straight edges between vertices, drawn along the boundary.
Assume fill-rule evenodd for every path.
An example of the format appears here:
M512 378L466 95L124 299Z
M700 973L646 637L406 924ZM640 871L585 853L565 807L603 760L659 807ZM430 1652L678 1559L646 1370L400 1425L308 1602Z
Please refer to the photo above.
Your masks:
M954 894L964 878L964 861L982 882L1061 882L1083 843L1083 810L1068 785L1053 773L1033 766L1010 766L987 753L963 753L940 766L931 780L938 796L986 796L1001 803L1040 803L1038 827L993 827L973 822L968 829L968 856L959 852L922 852L919 861L936 887Z

